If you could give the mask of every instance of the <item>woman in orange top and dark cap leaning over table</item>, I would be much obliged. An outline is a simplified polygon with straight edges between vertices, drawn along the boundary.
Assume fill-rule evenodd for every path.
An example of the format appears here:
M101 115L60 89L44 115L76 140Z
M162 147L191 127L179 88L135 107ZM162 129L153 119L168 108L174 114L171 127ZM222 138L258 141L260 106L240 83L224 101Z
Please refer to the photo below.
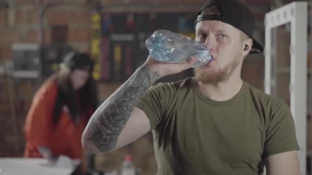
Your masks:
M53 157L82 158L81 136L97 106L92 69L89 55L69 53L36 92L25 122L25 157L43 157L39 150L49 149Z

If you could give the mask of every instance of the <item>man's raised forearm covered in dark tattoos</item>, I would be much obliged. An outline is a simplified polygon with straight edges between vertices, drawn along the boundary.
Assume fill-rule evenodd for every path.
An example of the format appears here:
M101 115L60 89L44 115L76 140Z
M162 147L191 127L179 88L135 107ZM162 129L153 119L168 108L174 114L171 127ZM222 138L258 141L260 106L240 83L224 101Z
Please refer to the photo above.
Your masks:
M108 152L116 146L136 103L160 76L143 65L93 114L83 134L84 147ZM88 148L87 148L88 149Z

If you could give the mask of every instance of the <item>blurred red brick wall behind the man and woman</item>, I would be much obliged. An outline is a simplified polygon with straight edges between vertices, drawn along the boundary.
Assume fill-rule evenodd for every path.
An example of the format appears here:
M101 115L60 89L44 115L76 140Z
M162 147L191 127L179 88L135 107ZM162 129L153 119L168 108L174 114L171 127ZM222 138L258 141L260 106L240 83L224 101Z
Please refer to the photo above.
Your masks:
M14 42L38 42L38 10L46 3L53 0L9 0L10 9L0 9L0 65L12 58L11 45ZM55 6L50 8L44 17L44 39L50 43L51 27L55 25L66 25L68 27L67 41L73 48L82 51L90 51L90 10L86 8L87 2L92 0L64 0L67 5ZM205 0L109 0L101 1L105 10L127 11L131 5L181 5L183 4L190 10L201 7ZM262 26L263 11L265 6L257 1L258 5L250 5L257 17L257 23ZM126 3L126 5L125 5ZM250 3L246 1L246 3ZM68 4L72 4L69 6ZM115 6L124 5L124 6ZM190 6L190 5L194 5ZM140 9L142 11L142 8ZM150 10L150 9L147 9ZM170 8L169 10L173 10ZM144 9L143 9L144 11ZM175 10L177 11L177 10ZM243 78L257 88L263 88L264 60L263 55L248 57L244 62L242 71ZM122 82L118 83L99 83L99 95L101 99L106 99L114 92ZM32 94L38 84L31 81L13 82L14 88L14 112L16 121L12 119L10 113L10 103L8 96L9 85L7 79L0 76L0 157L22 156L24 148L23 123L25 115L31 102ZM18 136L12 129L13 123L17 123ZM17 146L13 146L17 145ZM152 174L155 172L156 163L153 157L153 147L151 136L146 135L133 144L112 152L106 156L96 156L96 167L102 170L110 170L121 166L123 156L131 154L134 156L135 164L142 168L142 174ZM143 160L143 161L142 161Z

